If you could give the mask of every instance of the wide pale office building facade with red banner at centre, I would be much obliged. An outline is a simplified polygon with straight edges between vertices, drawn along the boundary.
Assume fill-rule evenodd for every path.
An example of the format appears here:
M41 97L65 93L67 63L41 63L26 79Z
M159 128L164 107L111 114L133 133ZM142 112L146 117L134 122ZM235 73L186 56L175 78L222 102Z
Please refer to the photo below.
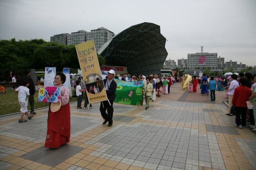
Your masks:
M204 64L199 63L199 58L205 57ZM194 53L188 54L188 68L217 68L218 53Z

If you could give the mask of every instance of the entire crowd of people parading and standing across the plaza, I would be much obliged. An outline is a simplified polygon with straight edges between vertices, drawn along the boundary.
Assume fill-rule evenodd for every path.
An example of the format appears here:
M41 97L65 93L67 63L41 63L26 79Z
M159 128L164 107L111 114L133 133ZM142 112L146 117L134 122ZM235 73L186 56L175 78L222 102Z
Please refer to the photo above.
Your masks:
M32 79L29 77L29 71L25 72L25 77L21 79L20 87L15 91L18 92L19 103L20 103L20 119L19 122L26 122L27 120L23 119L23 116L26 114L28 119L32 119L32 114L36 114L33 108L35 86ZM116 82L113 81L115 77L115 71L108 71L108 76L103 80L103 85L105 86L106 94L108 97L107 101L102 101L100 104L99 111L104 119L102 123L105 125L108 122L108 127L111 127L113 124L113 101L116 97ZM120 77L124 81L143 81L143 95L145 97L145 110L149 108L149 103L154 102L156 97L160 97L162 94L169 94L170 87L175 82L180 82L184 78L186 80L186 75L183 78L175 79L172 76L160 76L160 75L148 75L135 77L133 75L130 77L129 74L121 74ZM191 80L190 80L191 79ZM201 86L201 95L207 94L210 96L211 101L215 101L215 90L218 90L219 84L221 84L224 79L219 79L218 77L207 77L203 74L200 79L198 77L190 77L189 79L189 92L196 92L197 86ZM69 89L64 87L63 84L66 81L66 76L63 73L57 73L55 76L55 86L61 87L61 107L58 111L52 111L51 105L49 106L48 119L47 119L47 136L45 147L49 148L58 148L62 144L70 141L70 105L69 105ZM221 82L222 81L222 82ZM255 75L250 73L239 74L239 77L236 74L233 74L225 81L223 85L228 90L229 98L229 111L228 116L236 115L236 127L244 128L247 127L247 124L256 125L256 79ZM224 82L225 82L224 81ZM182 82L182 81L181 81ZM220 82L220 83L219 83ZM224 84L224 83L223 83ZM227 85L226 85L227 84ZM217 86L217 87L216 87ZM2 88L2 85L1 85ZM87 108L89 101L87 99L87 92L85 89L84 81L81 78L76 81L76 97L78 99L77 108L81 108L82 96L85 97L84 109ZM209 89L209 90L208 90ZM30 114L27 110L28 101L31 106ZM248 106L250 105L250 106ZM231 113L232 106L235 107L235 112ZM92 105L89 106L92 108ZM252 107L252 108L251 108ZM249 109L248 109L249 108ZM106 112L107 111L107 112ZM256 130L254 128L253 130Z

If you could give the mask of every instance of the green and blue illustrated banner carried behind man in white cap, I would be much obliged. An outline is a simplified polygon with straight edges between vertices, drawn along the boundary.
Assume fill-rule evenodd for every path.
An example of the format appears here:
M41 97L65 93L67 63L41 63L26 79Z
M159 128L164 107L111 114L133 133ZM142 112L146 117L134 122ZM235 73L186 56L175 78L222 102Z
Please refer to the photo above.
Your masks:
M143 81L126 82L120 79L114 79L116 86L115 103L125 105L143 105Z

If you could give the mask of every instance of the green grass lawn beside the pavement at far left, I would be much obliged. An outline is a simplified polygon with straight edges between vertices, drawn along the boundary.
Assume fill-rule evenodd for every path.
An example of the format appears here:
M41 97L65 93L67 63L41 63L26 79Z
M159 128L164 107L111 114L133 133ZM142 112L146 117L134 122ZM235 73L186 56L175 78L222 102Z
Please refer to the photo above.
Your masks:
M38 102L38 91L34 96L35 105L34 108L44 108L48 107L49 103L47 102ZM71 98L70 102L76 102L77 99ZM8 104L4 104L8 103ZM3 104L3 105L2 105ZM30 105L28 104L28 110L30 110ZM18 102L18 94L15 91L6 91L6 94L0 94L0 115L5 115L9 113L20 112L20 104Z

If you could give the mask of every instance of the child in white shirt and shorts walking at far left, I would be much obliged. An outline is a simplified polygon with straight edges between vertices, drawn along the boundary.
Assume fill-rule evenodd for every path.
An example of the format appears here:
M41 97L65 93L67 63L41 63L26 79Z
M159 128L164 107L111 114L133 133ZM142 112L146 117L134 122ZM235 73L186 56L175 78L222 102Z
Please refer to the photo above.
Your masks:
M29 120L33 117L33 115L29 115L28 112L28 100L29 100L29 89L27 88L29 86L29 80L28 79L24 79L23 81L23 86L18 87L15 92L19 93L18 94L18 99L19 99L19 103L20 103L20 119L19 119L19 123L22 122L27 122L27 120L23 119L24 114L26 114L29 118Z

